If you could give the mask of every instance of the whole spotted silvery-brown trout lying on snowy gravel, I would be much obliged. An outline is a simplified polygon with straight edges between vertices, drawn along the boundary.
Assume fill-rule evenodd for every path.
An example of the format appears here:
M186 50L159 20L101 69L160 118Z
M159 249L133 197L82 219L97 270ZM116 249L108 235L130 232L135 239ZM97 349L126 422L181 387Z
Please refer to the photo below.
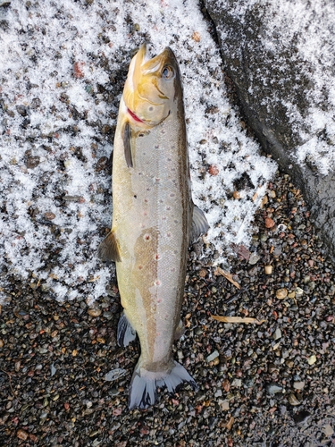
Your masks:
M194 205L180 68L170 47L153 58L146 44L130 62L113 143L113 222L98 256L116 263L121 296L117 341L140 342L129 408L155 404L157 391L183 383L197 390L172 357L180 320L188 246L207 232Z

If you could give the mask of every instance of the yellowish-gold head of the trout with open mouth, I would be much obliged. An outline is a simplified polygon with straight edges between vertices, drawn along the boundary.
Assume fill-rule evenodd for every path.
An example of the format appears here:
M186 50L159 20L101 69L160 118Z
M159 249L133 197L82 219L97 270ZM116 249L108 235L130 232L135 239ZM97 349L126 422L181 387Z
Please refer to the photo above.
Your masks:
M123 100L132 119L148 127L163 122L181 91L177 59L168 46L152 59L142 45L132 58L123 89Z

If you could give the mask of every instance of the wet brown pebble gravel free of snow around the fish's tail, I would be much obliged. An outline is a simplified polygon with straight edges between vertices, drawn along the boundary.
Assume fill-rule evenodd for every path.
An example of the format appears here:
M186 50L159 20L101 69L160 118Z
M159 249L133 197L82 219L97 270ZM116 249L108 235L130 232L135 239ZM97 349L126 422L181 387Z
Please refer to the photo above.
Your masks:
M60 305L38 283L13 281L0 324L0 444L335 443L334 266L289 176L269 184L252 246L229 259L240 290L213 259L198 260L202 249L200 241L189 252L186 333L174 348L200 389L163 391L146 411L127 408L139 346L116 345L115 281L95 308L84 296ZM211 314L265 322L223 324Z

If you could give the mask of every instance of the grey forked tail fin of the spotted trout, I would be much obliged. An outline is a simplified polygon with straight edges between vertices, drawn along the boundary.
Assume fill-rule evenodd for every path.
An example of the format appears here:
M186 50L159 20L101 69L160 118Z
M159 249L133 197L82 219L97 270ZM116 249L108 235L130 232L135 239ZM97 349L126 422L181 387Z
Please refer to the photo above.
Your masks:
M135 367L130 384L129 408L147 409L155 404L157 388L166 386L168 392L175 392L176 388L183 383L190 384L194 391L198 390L195 380L188 374L187 370L179 363L172 360L174 367L169 374L162 372L147 371L138 365Z

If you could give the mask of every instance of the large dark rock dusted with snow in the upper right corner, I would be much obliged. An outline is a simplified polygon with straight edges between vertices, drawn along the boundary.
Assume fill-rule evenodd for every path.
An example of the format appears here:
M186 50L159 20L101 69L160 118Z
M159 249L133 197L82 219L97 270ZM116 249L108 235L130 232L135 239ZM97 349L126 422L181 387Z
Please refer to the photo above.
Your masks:
M288 0L205 0L205 5L247 122L302 190L334 257L335 172L321 161L335 144L330 94L335 55L329 51L335 45L335 16L327 13L330 4L299 3L295 13L287 13L292 9Z

